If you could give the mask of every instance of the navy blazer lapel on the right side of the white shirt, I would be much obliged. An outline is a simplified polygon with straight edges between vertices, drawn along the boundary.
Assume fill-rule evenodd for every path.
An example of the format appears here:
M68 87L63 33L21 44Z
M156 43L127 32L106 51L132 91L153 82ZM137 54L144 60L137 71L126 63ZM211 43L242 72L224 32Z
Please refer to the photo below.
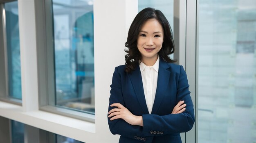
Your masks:
M157 110L164 98L165 91L169 84L169 78L171 74L171 72L167 70L168 68L169 68L168 64L162 58L160 58L158 77L157 77L157 90L155 93L155 101L153 104L151 114L157 113Z

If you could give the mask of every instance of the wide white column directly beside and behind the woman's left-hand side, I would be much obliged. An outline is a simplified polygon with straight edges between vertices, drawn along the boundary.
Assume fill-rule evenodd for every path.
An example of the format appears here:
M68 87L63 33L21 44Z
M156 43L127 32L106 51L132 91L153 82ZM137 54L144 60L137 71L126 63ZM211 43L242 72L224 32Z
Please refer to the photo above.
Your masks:
M137 0L94 0L95 142L119 139L108 128L110 85L115 67L125 64L124 44L137 6Z

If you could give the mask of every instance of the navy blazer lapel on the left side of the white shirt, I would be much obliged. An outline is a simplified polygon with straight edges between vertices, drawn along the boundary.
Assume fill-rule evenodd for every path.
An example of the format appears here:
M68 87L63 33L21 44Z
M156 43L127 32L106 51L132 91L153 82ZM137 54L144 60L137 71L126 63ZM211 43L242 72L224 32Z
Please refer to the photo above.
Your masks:
M131 72L131 74L129 74L129 76L132 81L132 86L137 95L139 104L140 104L142 110L144 111L144 114L149 114L148 107L146 104L145 95L144 95L143 83L142 83L141 72L140 72L139 66L137 66L135 71Z

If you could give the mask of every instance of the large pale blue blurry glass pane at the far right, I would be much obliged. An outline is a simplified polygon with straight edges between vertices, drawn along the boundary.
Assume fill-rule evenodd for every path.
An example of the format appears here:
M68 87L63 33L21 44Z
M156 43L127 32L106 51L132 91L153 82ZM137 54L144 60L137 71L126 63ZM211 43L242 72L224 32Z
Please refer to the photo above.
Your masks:
M255 0L200 0L198 11L198 143L254 143Z

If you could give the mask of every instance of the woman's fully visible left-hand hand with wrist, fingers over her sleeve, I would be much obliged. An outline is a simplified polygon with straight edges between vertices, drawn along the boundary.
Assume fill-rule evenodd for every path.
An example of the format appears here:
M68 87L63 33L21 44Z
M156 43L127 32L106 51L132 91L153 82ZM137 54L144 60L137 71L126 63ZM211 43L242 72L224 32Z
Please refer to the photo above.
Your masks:
M143 126L143 119L142 116L135 116L130 111L128 111L127 108L125 108L122 104L120 103L114 103L110 105L111 107L115 106L118 108L114 108L108 112L108 117L110 120L115 120L115 119L124 119L127 123L131 125L139 125Z

